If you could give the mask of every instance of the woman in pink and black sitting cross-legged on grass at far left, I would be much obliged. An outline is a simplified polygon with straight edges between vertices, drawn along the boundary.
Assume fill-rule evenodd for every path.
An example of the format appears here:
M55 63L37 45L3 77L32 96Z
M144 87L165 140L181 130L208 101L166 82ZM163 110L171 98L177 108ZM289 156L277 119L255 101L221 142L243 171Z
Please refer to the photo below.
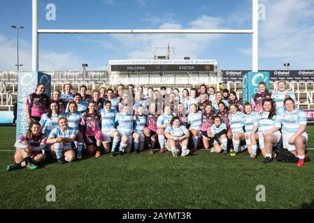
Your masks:
M45 154L42 153L46 145L47 137L41 132L41 124L32 121L29 124L27 133L17 139L14 146L16 148L14 161L15 165L9 164L7 171L27 167L27 169L37 169L37 164L45 160Z

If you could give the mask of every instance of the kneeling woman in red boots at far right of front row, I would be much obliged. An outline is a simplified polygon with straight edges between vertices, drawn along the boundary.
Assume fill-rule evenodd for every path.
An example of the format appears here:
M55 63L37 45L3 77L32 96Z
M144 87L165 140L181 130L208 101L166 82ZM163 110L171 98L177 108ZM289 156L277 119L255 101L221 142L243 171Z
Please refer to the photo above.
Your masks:
M303 167L305 146L308 141L306 113L295 107L292 98L286 98L283 103L285 110L278 115L282 124L283 148L287 148L295 157L298 157L297 166Z

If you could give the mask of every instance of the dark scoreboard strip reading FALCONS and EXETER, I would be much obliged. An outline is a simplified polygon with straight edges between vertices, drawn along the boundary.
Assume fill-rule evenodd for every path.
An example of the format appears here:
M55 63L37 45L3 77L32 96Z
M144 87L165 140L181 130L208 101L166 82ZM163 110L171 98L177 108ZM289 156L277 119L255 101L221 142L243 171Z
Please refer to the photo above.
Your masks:
M117 72L173 72L173 71L213 71L212 64L194 65L111 65L111 71Z

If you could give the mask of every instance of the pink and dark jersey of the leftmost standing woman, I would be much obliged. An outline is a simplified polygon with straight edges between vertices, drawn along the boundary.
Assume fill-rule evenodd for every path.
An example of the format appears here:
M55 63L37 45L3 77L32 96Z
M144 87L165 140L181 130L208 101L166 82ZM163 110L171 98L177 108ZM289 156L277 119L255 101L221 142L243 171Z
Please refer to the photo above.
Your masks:
M33 117L41 117L42 114L45 114L49 104L49 97L45 94L38 95L37 93L31 93L26 100L26 105L31 110L30 115Z

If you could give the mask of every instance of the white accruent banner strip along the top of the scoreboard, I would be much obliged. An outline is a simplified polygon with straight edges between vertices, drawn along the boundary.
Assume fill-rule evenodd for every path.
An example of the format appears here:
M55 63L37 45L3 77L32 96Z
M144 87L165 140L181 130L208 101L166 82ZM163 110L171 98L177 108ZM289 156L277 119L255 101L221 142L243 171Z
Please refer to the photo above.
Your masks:
M217 65L215 60L110 60L109 65Z

